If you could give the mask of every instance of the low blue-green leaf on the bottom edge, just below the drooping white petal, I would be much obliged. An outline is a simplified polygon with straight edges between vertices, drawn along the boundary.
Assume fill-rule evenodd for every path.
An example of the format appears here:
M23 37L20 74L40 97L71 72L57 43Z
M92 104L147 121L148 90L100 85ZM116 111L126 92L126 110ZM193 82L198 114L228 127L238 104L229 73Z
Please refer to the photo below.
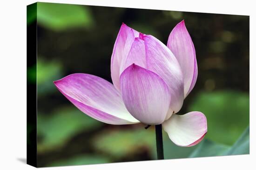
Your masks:
M189 155L189 157L213 157L221 156L230 146L216 144L208 139L203 139L197 148Z

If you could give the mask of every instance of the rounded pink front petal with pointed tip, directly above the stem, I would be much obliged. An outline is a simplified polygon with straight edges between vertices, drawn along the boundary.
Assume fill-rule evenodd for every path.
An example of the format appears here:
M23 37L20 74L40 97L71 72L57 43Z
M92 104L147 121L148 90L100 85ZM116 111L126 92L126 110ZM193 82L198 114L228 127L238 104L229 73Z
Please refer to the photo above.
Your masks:
M137 120L147 125L165 120L170 93L161 77L132 64L121 74L120 84L124 104Z

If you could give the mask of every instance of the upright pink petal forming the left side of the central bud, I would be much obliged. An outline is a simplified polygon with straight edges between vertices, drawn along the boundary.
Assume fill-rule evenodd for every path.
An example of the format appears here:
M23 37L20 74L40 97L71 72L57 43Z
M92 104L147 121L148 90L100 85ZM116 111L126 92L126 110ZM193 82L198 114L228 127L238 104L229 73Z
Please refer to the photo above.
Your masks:
M111 78L117 90L120 90L119 76L120 67L123 58L126 58L135 37L139 36L139 32L128 27L125 24L121 25L120 31L115 40L113 53L111 56Z

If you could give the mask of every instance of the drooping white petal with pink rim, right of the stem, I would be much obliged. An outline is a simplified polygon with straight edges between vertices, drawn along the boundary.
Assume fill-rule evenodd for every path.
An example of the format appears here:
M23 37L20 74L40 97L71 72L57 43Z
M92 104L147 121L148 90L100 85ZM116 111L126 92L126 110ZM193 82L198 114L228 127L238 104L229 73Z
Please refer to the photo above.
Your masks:
M162 125L169 138L178 146L194 146L207 132L207 120L201 112L174 114Z

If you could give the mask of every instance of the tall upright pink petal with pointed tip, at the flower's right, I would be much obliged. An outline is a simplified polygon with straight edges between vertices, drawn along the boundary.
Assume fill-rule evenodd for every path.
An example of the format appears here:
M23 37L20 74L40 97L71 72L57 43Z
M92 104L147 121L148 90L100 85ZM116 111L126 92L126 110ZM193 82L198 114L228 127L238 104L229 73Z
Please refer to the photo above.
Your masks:
M171 31L167 46L181 65L184 76L184 97L186 97L195 86L197 63L195 47L186 29L184 20Z

